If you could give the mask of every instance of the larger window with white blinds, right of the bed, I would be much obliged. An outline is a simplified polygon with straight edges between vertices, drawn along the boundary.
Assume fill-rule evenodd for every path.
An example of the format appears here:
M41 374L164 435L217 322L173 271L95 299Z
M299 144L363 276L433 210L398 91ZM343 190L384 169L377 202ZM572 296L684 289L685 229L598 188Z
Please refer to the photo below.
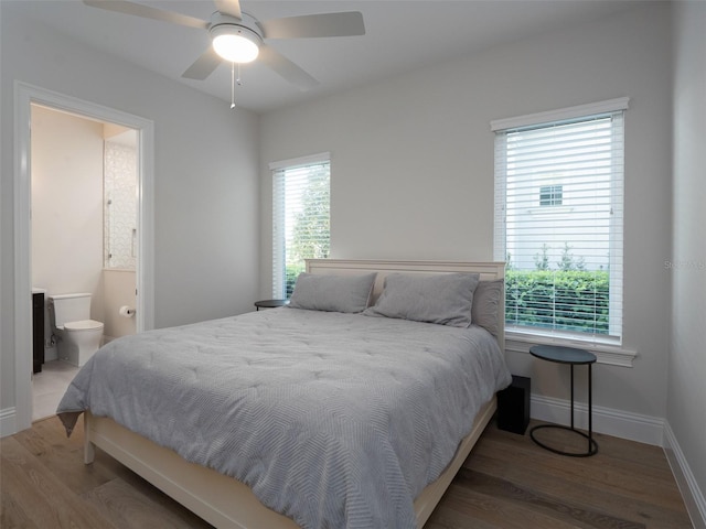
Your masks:
M622 98L491 123L507 331L620 343L627 108Z

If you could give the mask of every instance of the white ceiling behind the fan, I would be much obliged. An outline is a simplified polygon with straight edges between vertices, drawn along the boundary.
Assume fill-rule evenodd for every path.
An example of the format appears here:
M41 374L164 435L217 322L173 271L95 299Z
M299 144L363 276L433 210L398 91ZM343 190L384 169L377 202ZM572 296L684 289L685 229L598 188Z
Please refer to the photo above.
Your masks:
M197 90L231 100L231 68L206 80L182 73L210 45L206 31L109 12L81 0L0 0L77 41ZM208 20L211 0L136 0ZM240 0L258 20L334 11L361 11L364 36L268 40L320 82L302 91L257 62L243 65L236 104L256 112L376 83L436 62L468 56L502 43L588 23L635 7L627 0Z

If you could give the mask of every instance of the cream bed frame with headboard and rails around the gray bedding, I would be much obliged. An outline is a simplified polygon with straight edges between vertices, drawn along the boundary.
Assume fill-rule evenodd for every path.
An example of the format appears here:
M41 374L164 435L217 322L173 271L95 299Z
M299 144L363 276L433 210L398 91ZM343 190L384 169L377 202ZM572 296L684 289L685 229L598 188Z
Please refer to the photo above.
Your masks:
M374 261L312 259L307 261L310 273L360 274L378 272L373 289L376 298L382 291L385 276L392 272L449 273L478 272L481 281L504 278L504 262L440 262L440 261ZM498 343L504 350L504 304L498 315ZM475 417L473 429L461 441L456 456L439 478L427 486L415 499L417 527L426 523L434 508L450 485L471 449L485 429L496 409L495 398L486 402ZM189 463L175 452L127 430L115 421L84 414L84 462L94 461L97 446L117 461L160 488L174 500L217 528L238 529L296 529L290 519L265 507L247 485L216 471Z

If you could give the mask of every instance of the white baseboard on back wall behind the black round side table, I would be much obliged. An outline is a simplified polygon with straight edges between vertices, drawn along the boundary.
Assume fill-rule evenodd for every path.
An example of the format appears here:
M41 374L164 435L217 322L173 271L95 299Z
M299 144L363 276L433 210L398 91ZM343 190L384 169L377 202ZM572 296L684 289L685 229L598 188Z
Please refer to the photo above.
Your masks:
M595 432L656 446L664 445L664 419L599 406L592 408ZM539 421L568 425L571 420L570 410L568 400L539 395L533 395L531 398L531 415ZM588 407L582 402L574 406L574 424L584 430L588 429Z

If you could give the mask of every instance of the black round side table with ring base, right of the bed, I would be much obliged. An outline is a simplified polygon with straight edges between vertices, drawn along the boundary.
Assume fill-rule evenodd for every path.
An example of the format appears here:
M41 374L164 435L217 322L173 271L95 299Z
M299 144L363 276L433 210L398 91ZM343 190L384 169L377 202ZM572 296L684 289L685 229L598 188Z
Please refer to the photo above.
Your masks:
M530 436L539 446L550 452L554 452L556 454L570 455L574 457L587 457L589 455L595 455L596 453L598 453L598 443L593 439L593 431L592 431L591 365L596 363L596 355L585 349L578 349L576 347L563 347L559 345L533 345L532 347L530 347L530 354L543 360L555 361L557 364L568 364L571 368L571 425L565 427L563 424L539 424L538 427L534 427L532 430L530 430ZM582 366L582 365L588 367L588 434L574 428L574 366ZM579 435L582 435L588 440L588 446L586 452L566 452L563 450L548 446L547 444L543 443L542 441L538 441L534 436L535 431L543 430L543 429L568 430L570 432L575 432Z

